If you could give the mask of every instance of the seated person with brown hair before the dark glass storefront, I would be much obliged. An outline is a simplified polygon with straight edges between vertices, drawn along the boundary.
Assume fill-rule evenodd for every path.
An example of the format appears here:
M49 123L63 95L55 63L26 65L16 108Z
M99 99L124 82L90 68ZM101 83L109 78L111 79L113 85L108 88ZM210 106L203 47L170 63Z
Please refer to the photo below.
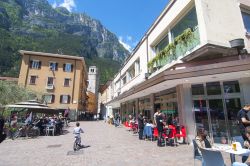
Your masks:
M211 148L211 144L207 139L207 133L204 128L200 128L197 131L197 136L195 137L195 142L199 148Z

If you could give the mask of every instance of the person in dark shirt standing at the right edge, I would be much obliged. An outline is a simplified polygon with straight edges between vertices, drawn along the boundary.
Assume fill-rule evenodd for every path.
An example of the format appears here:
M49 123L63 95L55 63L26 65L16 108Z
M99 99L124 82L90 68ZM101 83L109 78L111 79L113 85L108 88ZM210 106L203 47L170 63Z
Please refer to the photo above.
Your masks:
M244 141L247 140L245 130L248 126L250 126L250 120L247 115L248 111L250 111L250 104L245 104L244 107L237 113L237 121Z

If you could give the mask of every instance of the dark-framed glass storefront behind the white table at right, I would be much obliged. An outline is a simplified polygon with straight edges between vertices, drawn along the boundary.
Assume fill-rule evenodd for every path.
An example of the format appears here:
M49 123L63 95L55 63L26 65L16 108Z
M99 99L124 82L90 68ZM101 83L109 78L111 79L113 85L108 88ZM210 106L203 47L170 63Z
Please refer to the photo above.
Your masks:
M241 109L238 81L192 85L196 128L204 128L213 143L227 144L240 136L237 113Z

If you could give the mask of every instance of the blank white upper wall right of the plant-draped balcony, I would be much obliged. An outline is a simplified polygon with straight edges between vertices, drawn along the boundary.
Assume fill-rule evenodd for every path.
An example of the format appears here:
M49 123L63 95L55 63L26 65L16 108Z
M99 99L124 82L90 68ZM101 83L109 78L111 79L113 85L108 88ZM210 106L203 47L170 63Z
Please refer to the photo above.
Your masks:
M245 38L238 0L195 0L195 4L202 44L230 47L230 40Z

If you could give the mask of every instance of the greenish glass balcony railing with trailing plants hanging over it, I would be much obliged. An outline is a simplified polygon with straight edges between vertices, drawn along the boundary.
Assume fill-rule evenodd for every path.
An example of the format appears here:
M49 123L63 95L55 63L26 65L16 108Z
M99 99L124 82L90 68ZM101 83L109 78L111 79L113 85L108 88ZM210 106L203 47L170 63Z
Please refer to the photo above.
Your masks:
M152 64L148 64L149 71L151 73L153 73L153 72L157 71L158 69L162 68L163 66L165 66L166 64L169 64L172 61L177 60L180 57L184 57L188 51L191 51L197 45L199 45L200 44L200 35L199 35L198 27L195 27L191 33L192 34L189 35L188 38L186 38L185 41L183 41L183 42L178 42L178 41L176 41L176 38L175 38L175 43L177 43L177 42L178 43L176 45L172 44L173 46L171 46L171 47L174 49L172 49L172 48L168 49L168 52L169 52L168 55L164 55L164 56L157 55L158 57L155 57L157 59L153 59L150 62Z

